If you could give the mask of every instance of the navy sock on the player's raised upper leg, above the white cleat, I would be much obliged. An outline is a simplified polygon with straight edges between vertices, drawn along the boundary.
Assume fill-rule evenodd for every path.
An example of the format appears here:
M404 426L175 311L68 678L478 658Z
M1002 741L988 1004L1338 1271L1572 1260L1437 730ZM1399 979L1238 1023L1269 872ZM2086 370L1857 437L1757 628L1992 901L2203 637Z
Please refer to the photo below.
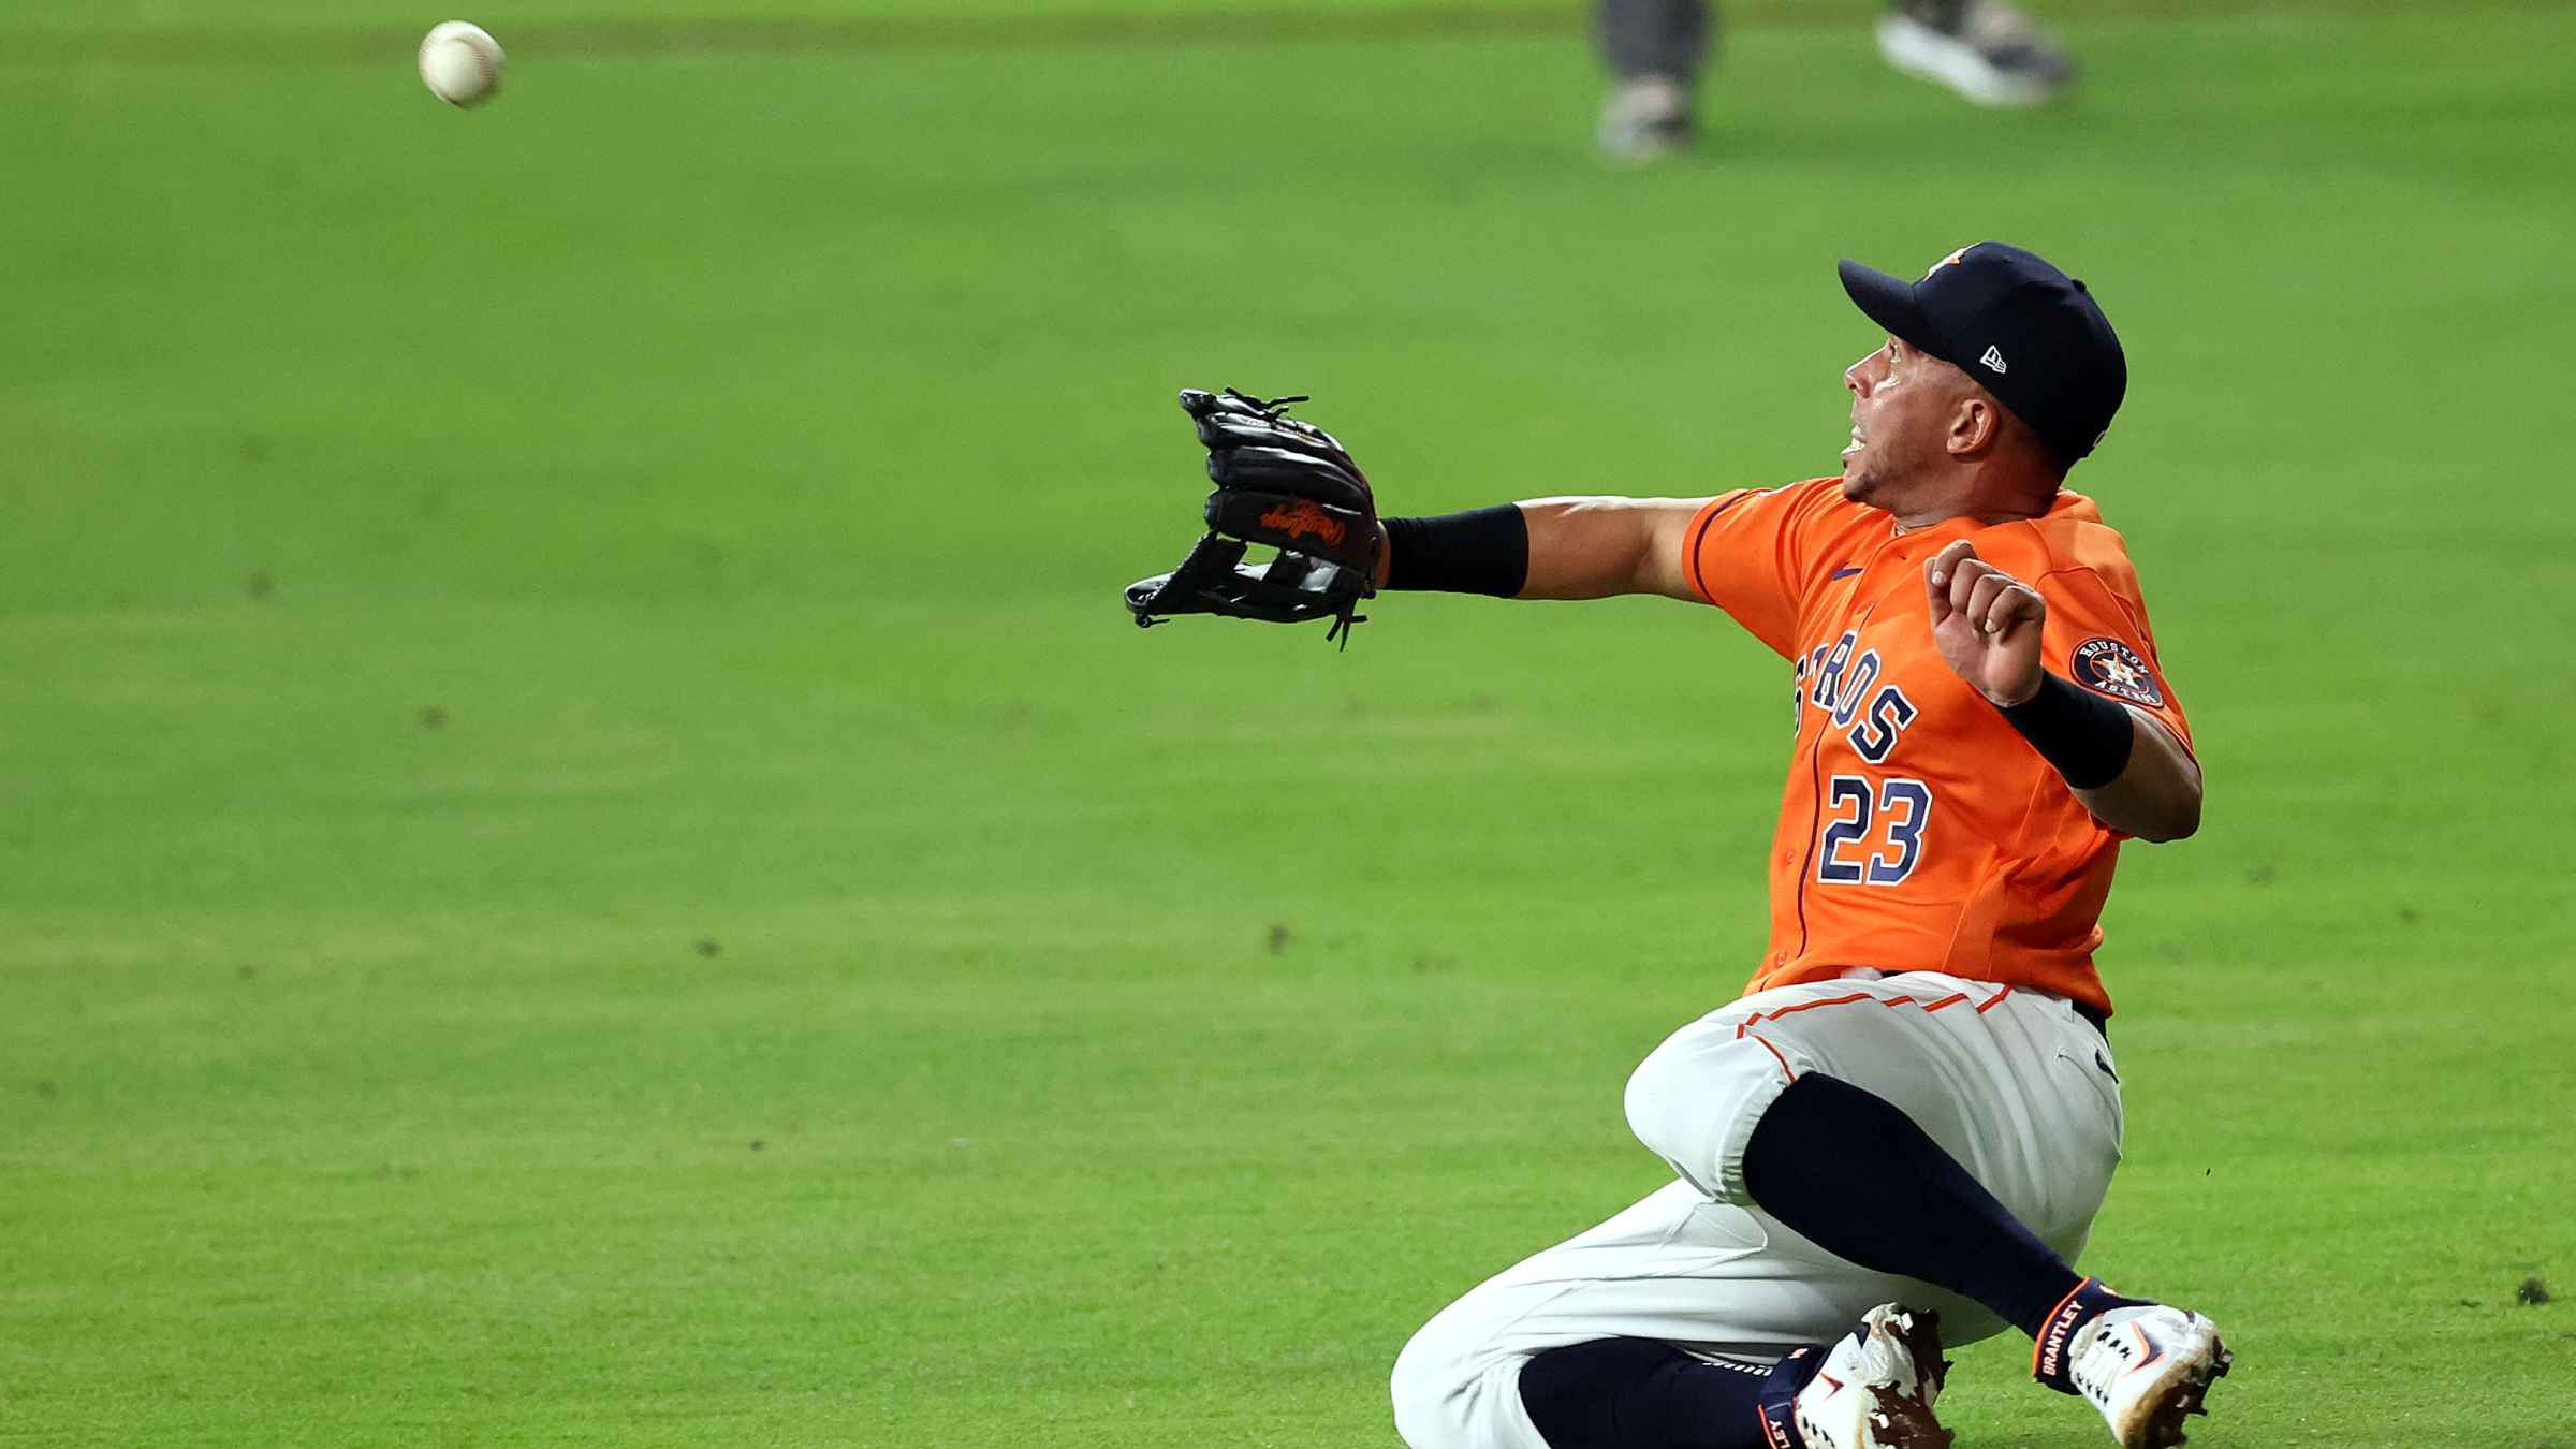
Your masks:
M1976 1299L2032 1338L2084 1281L1883 1096L1808 1073L1754 1124L1744 1191L1862 1269Z

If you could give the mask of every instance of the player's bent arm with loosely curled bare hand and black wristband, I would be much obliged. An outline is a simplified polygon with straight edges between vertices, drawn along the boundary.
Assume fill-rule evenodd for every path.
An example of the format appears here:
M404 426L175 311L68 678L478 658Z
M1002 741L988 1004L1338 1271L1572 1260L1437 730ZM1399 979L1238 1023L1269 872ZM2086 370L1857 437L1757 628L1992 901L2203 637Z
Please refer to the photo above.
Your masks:
M2156 717L2040 668L2048 601L1960 539L1924 565L1932 642L2094 820L2141 841L2200 830L2200 763Z

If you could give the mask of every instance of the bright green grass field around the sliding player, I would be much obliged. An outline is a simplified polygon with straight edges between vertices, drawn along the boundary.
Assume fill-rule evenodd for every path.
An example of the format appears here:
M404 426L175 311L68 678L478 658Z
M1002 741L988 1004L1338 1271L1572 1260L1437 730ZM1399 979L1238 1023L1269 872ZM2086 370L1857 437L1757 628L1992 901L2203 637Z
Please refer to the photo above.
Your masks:
M381 0L0 5L0 1441L1394 1446L1412 1328L1662 1178L1783 670L1139 634L1170 392L1319 394L1399 513L1788 480L1832 260L2009 237L2128 340L2076 485L2210 776L2089 1266L2228 1325L2195 1449L2576 1449L2576 13L2069 0L2084 93L1976 113L1765 5L1610 173L1571 8L1159 8L538 28L459 116L137 41ZM2020 1354L1960 1446L2099 1444Z

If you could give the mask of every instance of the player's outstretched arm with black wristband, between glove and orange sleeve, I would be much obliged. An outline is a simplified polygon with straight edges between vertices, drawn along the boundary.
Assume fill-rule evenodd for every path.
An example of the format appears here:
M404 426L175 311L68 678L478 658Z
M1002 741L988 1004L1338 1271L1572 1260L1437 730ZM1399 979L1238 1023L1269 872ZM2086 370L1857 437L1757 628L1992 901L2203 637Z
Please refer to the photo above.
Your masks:
M1378 588L1502 598L1698 598L1682 544L1705 498L1535 498L1445 518L1386 518Z

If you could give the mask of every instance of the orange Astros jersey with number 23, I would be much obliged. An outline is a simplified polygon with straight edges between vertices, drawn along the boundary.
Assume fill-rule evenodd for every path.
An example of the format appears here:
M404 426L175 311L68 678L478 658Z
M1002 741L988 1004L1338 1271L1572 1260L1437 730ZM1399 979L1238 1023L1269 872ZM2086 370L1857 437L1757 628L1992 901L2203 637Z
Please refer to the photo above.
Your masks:
M2123 835L1940 657L1924 562L1953 539L2048 601L2050 673L2190 748L2128 547L2089 498L1914 534L1847 503L1839 477L1713 498L1682 554L1692 590L1798 665L1770 954L1749 993L1850 967L1937 969L2110 1011L2092 954Z

